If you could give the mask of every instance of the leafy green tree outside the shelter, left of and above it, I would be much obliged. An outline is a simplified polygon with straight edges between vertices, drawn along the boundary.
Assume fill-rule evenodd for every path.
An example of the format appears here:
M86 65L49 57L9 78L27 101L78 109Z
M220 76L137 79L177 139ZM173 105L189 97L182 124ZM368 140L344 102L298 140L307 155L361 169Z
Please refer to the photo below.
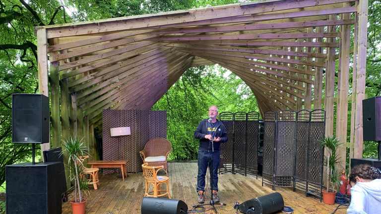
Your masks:
M190 7L190 2L190 0L0 1L0 184L5 181L5 165L28 161L31 157L30 145L11 143L11 95L38 92L35 26L177 10ZM40 147L37 146L36 149L39 150ZM36 154L40 153L36 151Z

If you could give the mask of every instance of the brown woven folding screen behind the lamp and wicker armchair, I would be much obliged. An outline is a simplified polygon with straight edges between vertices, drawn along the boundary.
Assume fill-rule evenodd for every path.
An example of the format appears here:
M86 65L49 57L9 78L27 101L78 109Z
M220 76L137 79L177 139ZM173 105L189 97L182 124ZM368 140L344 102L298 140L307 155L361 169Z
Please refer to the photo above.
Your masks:
M151 110L102 110L103 160L120 160L120 154L127 159L127 171L141 171L143 161L139 151L152 138L167 138L167 112ZM131 135L111 137L110 129L129 126ZM118 145L119 144L119 145ZM121 151L118 151L120 148ZM121 152L121 153L120 153ZM116 172L105 168L103 173Z

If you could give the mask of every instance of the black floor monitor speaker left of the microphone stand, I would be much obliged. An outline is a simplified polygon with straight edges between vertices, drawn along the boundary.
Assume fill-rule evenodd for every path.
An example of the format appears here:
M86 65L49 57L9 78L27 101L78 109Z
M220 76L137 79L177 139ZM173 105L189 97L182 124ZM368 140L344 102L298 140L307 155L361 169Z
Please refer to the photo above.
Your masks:
M185 214L188 206L185 202L167 198L144 197L141 202L141 214Z

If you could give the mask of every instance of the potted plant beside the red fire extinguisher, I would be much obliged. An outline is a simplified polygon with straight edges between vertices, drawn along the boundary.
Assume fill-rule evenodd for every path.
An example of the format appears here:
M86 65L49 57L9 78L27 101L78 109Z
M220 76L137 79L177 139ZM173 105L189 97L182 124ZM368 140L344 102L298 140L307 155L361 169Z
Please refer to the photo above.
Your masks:
M339 163L336 151L341 143L336 136L327 136L321 141L321 145L326 151L326 155L324 156L324 166L326 166L327 169L327 188L322 190L323 202L325 204L335 204L336 190L340 182L336 170L336 166Z

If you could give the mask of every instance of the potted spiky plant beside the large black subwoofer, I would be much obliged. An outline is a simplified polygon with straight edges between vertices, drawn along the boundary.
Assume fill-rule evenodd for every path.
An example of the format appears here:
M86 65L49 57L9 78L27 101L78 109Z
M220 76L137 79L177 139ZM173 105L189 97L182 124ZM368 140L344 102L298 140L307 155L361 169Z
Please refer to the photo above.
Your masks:
M70 169L70 179L74 182L74 200L71 203L73 214L84 214L86 200L83 194L88 192L87 179L81 176L82 167L78 164L79 157L88 155L88 149L83 143L83 138L78 136L63 140L62 154L67 156L67 165Z

